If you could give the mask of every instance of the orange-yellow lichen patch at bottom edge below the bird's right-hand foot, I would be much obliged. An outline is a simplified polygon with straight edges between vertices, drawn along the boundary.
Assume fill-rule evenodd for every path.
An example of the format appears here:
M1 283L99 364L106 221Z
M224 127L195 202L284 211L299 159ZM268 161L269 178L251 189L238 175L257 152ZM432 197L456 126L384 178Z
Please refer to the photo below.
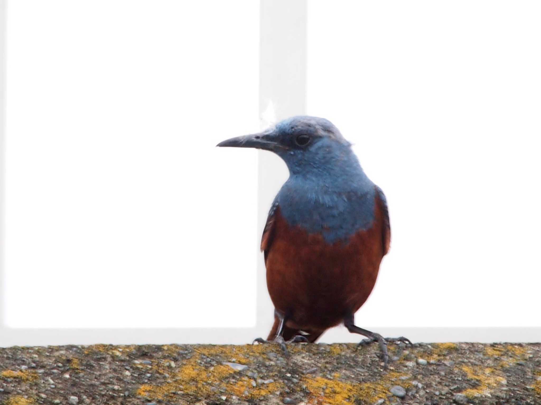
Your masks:
M310 403L341 405L347 401L351 402L360 399L366 403L374 403L380 399L385 399L389 389L397 385L399 377L406 374L391 372L381 376L378 381L369 382L349 382L340 381L340 374L335 373L336 379L325 377L305 377L303 380L306 388L311 392ZM400 381L399 385L404 388L411 386L411 382Z

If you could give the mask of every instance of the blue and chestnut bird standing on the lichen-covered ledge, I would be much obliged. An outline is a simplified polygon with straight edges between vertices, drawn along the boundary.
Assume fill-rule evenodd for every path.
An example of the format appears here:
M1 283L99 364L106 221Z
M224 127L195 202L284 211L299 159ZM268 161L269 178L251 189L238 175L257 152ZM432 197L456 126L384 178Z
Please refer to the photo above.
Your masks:
M274 324L258 342L315 342L343 324L378 342L387 368L387 342L355 325L354 314L374 288L390 249L385 194L367 177L347 141L329 120L284 119L267 130L230 138L220 147L249 147L277 154L289 178L274 198L261 238Z

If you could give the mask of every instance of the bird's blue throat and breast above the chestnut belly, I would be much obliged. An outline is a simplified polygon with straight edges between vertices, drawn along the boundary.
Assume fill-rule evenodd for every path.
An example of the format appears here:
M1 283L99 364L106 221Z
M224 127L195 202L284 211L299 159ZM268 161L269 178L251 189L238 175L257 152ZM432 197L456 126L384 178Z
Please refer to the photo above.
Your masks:
M374 221L375 186L362 170L349 144L321 139L307 156L304 151L282 151L289 179L273 207L289 225L322 234L325 241L347 243ZM273 208L272 208L273 209Z

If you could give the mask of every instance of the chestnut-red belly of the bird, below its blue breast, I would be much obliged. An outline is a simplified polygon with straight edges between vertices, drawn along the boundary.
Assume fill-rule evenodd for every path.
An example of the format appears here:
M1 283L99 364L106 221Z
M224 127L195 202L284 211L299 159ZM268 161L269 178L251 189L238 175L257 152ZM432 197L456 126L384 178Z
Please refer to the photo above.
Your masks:
M380 221L347 242L328 244L321 234L308 234L277 217L266 259L267 288L275 308L290 314L290 327L338 325L372 292L384 255Z

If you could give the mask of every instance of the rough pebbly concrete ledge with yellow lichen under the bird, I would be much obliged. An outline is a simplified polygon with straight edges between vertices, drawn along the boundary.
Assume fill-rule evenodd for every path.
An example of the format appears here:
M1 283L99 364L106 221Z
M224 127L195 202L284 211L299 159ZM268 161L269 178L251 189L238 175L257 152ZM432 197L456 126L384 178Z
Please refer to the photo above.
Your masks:
M541 404L541 344L0 348L0 403Z

